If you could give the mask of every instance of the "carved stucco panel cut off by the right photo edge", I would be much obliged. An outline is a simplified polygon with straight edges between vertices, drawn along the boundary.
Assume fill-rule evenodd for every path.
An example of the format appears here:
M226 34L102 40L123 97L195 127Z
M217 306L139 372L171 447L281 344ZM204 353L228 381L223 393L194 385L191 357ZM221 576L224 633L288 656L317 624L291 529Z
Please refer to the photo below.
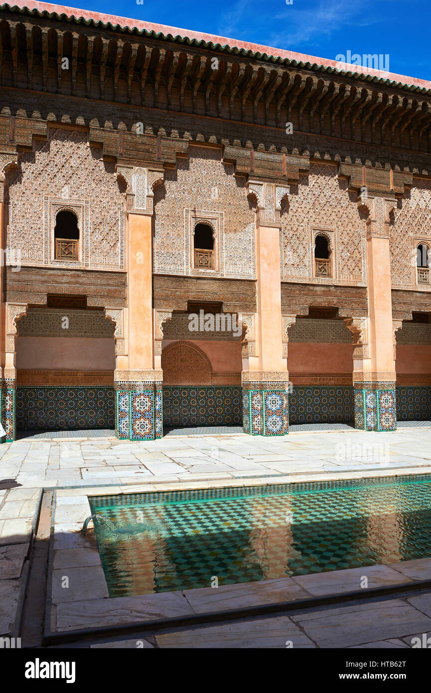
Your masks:
M414 179L414 186L401 198L401 207L394 209L389 234L392 286L416 286L415 238L431 240L430 180Z

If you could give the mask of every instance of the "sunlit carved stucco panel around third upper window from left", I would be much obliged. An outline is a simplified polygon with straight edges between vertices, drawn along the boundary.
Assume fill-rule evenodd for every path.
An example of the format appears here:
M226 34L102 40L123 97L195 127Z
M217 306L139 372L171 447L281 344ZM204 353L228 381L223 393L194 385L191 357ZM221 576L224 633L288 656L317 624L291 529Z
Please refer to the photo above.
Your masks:
M332 258L337 281L366 283L365 221L347 182L328 164L313 164L308 175L299 176L299 185L290 186L289 206L281 215L283 277L313 277L312 229L319 228L333 229L337 236L337 256Z

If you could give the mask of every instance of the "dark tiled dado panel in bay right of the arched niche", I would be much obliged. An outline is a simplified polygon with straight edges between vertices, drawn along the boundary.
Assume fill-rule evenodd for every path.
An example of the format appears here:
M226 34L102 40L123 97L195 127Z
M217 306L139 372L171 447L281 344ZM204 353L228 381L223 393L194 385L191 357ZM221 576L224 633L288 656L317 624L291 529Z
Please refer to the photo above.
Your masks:
M289 394L290 423L353 421L353 387L295 386Z

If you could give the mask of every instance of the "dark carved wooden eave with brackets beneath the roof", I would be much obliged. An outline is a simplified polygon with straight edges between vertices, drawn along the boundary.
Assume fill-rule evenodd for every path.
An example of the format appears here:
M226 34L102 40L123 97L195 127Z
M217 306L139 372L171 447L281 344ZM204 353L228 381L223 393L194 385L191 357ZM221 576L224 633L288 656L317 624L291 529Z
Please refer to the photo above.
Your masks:
M24 8L3 8L0 84L283 130L291 122L298 132L431 148L428 89L72 17L37 17Z

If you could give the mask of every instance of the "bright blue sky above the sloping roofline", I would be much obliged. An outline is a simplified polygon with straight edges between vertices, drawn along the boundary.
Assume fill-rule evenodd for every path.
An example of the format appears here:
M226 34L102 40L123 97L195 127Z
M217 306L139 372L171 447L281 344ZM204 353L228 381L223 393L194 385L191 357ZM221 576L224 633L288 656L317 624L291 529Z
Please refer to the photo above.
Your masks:
M323 58L388 53L390 72L431 80L431 0L78 0L82 5Z

